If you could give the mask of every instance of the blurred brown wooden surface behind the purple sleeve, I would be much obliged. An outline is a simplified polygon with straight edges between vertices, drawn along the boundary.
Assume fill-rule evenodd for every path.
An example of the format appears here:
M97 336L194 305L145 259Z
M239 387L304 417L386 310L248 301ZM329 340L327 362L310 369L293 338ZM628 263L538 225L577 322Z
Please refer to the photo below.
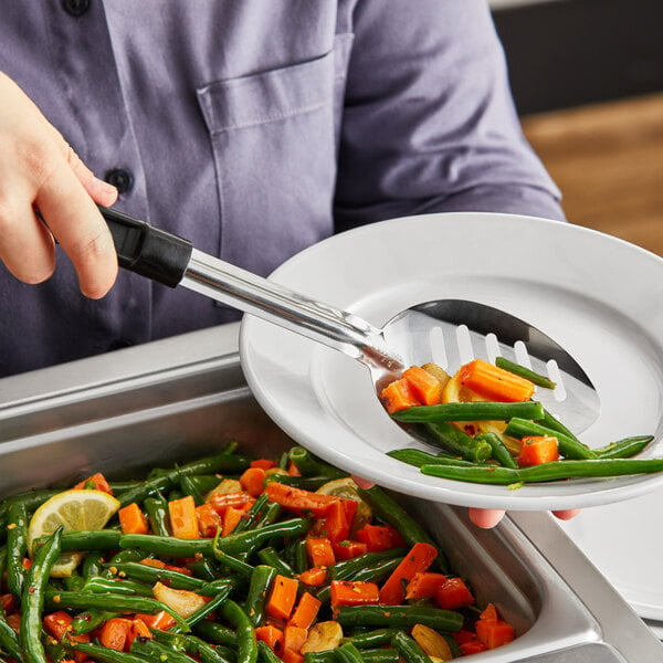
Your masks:
M522 118L573 223L663 256L663 94Z

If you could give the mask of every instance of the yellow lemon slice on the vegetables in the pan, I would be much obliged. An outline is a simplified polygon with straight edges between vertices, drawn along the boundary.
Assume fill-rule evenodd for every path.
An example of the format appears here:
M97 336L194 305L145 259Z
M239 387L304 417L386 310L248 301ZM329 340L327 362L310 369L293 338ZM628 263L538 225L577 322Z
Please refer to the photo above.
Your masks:
M32 557L34 540L64 532L103 529L119 508L119 502L103 491L64 491L46 499L33 514L28 526L28 551ZM65 578L83 559L82 552L63 552L53 565L51 576Z

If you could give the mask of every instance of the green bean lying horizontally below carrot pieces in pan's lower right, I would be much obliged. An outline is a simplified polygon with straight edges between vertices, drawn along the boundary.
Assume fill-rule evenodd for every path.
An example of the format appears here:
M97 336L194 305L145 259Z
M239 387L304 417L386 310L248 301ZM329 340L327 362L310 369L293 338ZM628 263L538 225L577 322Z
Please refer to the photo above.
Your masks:
M402 627L424 624L436 631L457 631L463 615L452 610L419 606L347 606L338 608L336 621L341 627Z

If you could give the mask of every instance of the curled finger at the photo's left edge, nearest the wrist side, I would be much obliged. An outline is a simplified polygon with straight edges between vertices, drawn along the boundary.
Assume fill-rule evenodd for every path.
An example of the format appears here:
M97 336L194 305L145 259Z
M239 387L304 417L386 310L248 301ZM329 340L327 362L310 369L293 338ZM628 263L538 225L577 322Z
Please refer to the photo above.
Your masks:
M27 202L0 201L0 259L23 283L42 283L55 270L53 236Z

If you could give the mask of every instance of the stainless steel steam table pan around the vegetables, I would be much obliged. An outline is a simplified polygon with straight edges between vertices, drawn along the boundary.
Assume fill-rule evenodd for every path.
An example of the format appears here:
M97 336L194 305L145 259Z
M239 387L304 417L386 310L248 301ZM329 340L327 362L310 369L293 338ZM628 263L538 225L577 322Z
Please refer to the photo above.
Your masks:
M96 470L122 476L202 455L228 439L257 454L292 444L246 387L238 328L0 380L0 496ZM663 661L657 639L547 514L512 514L481 530L464 509L403 499L480 602L495 602L516 628L513 643L471 660Z

